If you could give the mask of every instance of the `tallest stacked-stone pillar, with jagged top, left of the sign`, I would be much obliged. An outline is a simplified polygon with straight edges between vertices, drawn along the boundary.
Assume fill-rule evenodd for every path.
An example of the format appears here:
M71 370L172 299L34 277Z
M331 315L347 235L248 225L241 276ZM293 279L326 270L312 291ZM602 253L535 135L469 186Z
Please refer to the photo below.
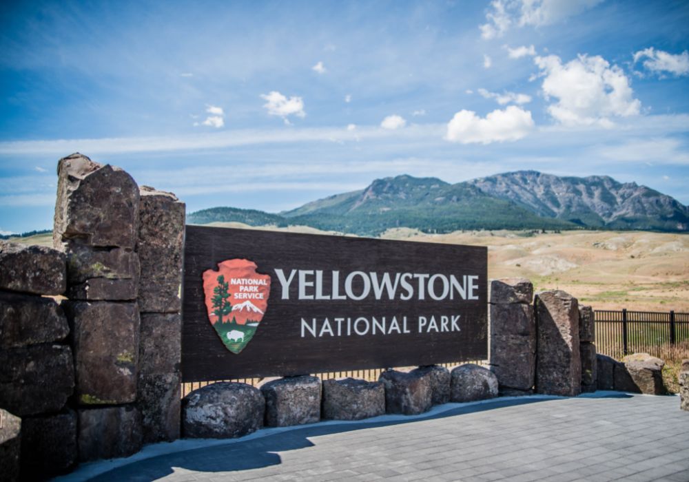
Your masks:
M53 243L67 255L65 311L72 328L81 461L141 448L141 417L133 404L139 202L136 182L122 169L81 154L59 161Z

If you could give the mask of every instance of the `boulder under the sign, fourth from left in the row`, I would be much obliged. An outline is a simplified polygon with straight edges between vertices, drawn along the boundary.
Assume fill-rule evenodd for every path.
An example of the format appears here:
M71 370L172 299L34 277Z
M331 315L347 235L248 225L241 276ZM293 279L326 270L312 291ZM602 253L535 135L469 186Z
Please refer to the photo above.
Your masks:
M386 370L378 381L385 388L385 411L418 415L431 410L433 388L431 379L423 373L404 373Z

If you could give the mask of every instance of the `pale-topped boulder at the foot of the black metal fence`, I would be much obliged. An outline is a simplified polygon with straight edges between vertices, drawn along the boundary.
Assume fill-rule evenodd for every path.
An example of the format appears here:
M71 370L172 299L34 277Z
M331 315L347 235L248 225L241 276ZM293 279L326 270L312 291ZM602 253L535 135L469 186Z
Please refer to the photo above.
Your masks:
M666 392L663 383L664 366L663 360L648 353L627 355L616 367L615 390L663 395Z

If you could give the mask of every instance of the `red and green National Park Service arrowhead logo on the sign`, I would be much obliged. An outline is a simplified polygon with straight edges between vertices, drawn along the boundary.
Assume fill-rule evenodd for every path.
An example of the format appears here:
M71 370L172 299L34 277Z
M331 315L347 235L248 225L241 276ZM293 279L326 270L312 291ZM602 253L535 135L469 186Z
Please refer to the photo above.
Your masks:
M256 268L253 261L236 258L203 272L208 321L232 353L249 344L268 308L270 276Z

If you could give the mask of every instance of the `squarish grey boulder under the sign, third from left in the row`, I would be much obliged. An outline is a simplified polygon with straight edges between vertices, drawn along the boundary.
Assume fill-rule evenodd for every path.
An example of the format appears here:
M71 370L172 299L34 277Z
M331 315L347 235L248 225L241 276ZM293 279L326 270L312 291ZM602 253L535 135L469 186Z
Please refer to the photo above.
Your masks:
M380 381L353 378L323 380L322 417L361 420L385 413L385 388Z

